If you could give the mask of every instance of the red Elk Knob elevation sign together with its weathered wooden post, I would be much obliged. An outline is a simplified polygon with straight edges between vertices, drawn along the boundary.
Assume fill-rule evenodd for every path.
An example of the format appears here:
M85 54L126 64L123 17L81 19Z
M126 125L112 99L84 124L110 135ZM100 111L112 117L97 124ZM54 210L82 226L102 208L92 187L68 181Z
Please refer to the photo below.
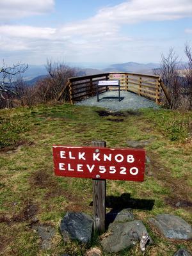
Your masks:
M55 175L93 180L94 230L104 232L106 179L143 181L145 150L106 148L105 141L92 141L92 147L54 145L52 151Z

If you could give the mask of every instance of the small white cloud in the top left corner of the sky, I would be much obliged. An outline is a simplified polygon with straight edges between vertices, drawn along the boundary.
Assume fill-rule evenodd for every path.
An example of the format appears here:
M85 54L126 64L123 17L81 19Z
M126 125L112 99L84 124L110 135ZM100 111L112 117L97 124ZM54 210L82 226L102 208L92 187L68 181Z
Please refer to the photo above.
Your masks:
M51 12L54 0L1 0L0 20L20 19L31 15L40 15Z

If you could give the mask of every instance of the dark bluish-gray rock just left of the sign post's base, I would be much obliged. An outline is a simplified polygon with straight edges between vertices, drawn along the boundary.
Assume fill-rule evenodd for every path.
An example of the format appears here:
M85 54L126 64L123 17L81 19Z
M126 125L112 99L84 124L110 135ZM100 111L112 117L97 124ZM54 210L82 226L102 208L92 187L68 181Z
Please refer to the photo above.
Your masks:
M64 241L88 243L92 238L93 219L83 212L67 212L60 225Z

